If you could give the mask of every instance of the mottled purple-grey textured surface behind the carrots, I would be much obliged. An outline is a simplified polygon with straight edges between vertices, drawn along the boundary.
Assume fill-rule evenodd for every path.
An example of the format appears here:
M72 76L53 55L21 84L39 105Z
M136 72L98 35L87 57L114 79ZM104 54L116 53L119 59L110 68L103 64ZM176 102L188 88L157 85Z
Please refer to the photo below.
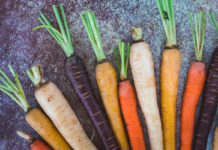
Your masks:
M103 149L97 132L84 110L82 104L70 87L64 74L65 54L57 45L56 41L45 29L32 31L39 25L37 16L42 11L57 27L54 18L52 4L64 4L68 25L70 28L75 52L82 57L88 69L96 97L102 104L94 76L96 58L91 44L83 27L79 14L90 9L95 12L102 37L103 47L107 58L113 62L112 48L117 46L117 39L132 42L129 29L131 26L143 28L144 40L150 45L156 71L156 83L158 102L159 99L159 68L161 52L164 48L165 35L160 15L155 0L1 0L0 1L0 68L9 73L7 68L11 64L19 73L20 80L26 92L27 98L33 107L39 107L34 98L34 87L25 74L25 70L34 64L42 64L45 78L53 81L64 93L72 108L80 119L89 137L93 138L94 144ZM176 17L177 41L182 52L182 68L180 74L178 104L177 104L177 149L179 148L180 135L180 108L181 99L186 80L186 73L190 63L194 60L194 51L191 31L188 24L187 11L195 12L200 9L214 10L218 19L217 0L174 0ZM218 33L208 17L206 24L206 37L204 49L204 62L208 65L212 51L217 45ZM131 72L129 72L129 78ZM143 116L139 110L147 149L149 140ZM19 138L15 131L25 130L38 137L36 132L25 122L24 112L8 96L0 92L0 149L1 150L26 150L30 149L28 143ZM214 122L214 126L215 126ZM211 131L212 133L213 131ZM212 141L210 135L210 142ZM209 142L209 143L210 143ZM211 149L208 144L208 150Z

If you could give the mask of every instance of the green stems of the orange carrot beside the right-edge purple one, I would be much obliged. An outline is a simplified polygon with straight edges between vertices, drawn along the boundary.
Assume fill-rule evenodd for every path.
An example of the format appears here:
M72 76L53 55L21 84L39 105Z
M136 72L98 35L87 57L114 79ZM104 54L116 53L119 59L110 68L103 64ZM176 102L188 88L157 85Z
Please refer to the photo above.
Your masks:
M203 48L204 48L204 36L205 36L205 24L206 14L200 11L199 15L194 14L194 24L192 21L191 13L188 13L190 27L192 31L192 38L195 49L195 57L197 61L202 61Z

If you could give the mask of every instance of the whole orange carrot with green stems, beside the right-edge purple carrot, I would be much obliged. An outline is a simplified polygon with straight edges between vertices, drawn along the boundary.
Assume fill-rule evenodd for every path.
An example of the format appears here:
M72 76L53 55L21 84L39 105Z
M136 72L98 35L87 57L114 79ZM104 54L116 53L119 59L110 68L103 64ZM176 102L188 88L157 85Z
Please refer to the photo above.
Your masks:
M193 28L191 14L189 13L196 61L194 61L189 68L186 88L182 101L180 150L192 149L195 113L204 88L207 72L206 65L202 62L206 15L200 11L199 22L197 21L196 13L194 16L196 25L195 27L197 27L196 30Z

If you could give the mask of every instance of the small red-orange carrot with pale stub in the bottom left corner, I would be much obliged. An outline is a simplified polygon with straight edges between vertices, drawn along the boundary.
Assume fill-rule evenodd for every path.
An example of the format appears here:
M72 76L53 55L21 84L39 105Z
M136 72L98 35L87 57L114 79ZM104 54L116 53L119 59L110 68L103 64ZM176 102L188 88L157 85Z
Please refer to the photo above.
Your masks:
M51 150L44 142L42 142L39 139L33 139L29 134L22 132L22 131L16 131L17 134L27 140L31 146L32 150Z

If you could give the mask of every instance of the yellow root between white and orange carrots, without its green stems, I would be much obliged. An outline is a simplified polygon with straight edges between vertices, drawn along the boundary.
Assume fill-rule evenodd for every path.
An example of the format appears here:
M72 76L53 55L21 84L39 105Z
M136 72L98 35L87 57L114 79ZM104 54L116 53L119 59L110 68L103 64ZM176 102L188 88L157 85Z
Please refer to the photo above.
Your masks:
M162 53L160 87L164 149L176 149L176 102L181 66L179 49L165 49Z

